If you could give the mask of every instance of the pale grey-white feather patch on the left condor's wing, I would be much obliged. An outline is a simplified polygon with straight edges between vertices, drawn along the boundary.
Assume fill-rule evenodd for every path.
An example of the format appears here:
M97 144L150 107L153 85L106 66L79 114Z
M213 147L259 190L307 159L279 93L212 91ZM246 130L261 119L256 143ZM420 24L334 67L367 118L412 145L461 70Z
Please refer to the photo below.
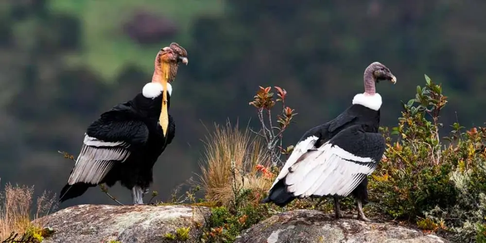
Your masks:
M115 162L124 162L130 155L125 142L105 142L85 134L81 152L76 159L68 184L77 182L98 184L113 168Z

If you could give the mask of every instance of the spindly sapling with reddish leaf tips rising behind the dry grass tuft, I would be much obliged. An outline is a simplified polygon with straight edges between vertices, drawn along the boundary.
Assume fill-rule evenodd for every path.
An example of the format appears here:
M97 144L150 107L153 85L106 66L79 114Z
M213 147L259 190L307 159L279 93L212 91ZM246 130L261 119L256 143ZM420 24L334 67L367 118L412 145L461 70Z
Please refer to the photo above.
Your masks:
M274 93L270 92L271 87L261 87L257 91L257 94L253 97L253 101L250 105L257 108L258 119L260 121L260 131L254 132L255 134L261 136L265 139L266 148L270 152L272 165L281 167L283 162L280 156L288 155L294 149L294 146L288 146L287 148L282 147L283 132L288 128L292 122L292 118L297 115L295 110L285 105L285 97L287 96L287 91L280 87L275 87L277 89L277 99L274 99ZM281 113L277 115L278 126L274 125L272 120L272 108L280 103L282 110Z

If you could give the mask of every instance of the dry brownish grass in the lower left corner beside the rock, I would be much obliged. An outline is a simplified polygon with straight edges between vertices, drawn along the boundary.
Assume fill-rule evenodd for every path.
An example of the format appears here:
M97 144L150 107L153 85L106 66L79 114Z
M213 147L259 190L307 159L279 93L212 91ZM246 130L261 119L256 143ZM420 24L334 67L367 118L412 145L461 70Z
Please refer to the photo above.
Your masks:
M19 186L7 183L0 191L0 240L6 239L12 232L20 236L29 228L42 228L44 222L39 219L57 207L55 194L50 196L44 191L34 205L34 186ZM32 223L36 220L35 223Z

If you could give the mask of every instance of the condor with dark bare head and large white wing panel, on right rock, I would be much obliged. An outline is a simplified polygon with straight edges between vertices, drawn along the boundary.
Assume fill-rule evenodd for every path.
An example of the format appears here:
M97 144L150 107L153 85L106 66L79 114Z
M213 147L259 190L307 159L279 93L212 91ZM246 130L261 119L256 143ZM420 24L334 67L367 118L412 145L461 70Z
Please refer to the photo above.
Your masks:
M362 208L368 202L367 175L385 151L385 140L378 132L382 97L375 91L375 83L382 80L397 82L383 64L370 64L364 70L364 93L355 95L338 117L304 134L261 203L284 207L296 197L332 196L335 216L341 218L339 198L351 193L358 218L369 221Z

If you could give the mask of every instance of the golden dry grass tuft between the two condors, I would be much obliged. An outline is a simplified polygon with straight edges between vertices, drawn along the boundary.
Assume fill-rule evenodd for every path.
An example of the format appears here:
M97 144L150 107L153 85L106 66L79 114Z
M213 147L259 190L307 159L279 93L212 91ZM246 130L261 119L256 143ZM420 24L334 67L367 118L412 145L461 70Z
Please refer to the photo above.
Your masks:
M226 207L234 200L235 191L251 190L258 200L272 185L272 174L266 170L270 165L270 154L248 127L242 132L238 124L232 127L229 121L226 126L215 124L205 141L201 189L208 201Z

